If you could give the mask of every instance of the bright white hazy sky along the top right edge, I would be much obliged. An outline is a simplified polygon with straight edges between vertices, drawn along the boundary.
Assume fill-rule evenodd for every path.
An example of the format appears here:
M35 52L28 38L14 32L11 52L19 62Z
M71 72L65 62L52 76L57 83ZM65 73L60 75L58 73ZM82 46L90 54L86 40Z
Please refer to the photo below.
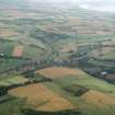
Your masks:
M39 0L31 0L37 2ZM49 2L74 2L80 8L94 11L115 12L115 0L44 0Z

